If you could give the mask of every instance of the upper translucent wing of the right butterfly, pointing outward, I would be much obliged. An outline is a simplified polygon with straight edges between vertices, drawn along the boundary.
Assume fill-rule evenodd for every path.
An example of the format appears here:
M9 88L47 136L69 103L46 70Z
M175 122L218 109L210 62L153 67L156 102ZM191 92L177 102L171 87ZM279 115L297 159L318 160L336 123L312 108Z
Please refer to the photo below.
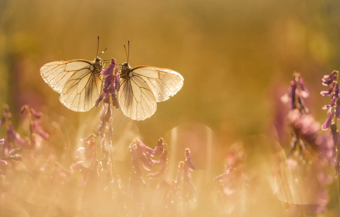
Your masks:
M163 102L173 97L184 84L181 74L171 69L136 66L131 70L147 83L155 96L156 102Z

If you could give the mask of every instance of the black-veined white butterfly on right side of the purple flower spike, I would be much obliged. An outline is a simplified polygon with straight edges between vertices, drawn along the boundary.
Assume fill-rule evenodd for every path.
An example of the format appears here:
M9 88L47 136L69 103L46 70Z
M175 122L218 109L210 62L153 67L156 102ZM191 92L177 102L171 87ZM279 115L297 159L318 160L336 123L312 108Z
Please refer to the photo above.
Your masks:
M129 52L127 57L129 61ZM183 76L171 69L131 67L128 62L122 64L120 78L119 105L123 113L133 120L151 117L156 112L157 102L173 97L184 84Z

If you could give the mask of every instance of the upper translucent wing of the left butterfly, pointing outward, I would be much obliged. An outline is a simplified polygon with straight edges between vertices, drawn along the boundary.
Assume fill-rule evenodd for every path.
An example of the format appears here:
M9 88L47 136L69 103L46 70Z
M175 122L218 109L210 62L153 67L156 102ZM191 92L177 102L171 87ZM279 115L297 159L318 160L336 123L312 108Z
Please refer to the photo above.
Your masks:
M40 75L54 91L60 93L75 71L89 65L92 62L87 60L53 61L41 66Z

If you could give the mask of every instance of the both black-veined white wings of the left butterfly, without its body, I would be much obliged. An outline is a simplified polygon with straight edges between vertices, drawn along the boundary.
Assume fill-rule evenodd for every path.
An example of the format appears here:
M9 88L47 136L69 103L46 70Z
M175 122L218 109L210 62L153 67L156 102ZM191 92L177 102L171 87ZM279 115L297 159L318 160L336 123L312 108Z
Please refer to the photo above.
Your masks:
M100 94L101 80L86 60L54 61L40 68L41 77L60 93L60 102L75 112L90 110Z

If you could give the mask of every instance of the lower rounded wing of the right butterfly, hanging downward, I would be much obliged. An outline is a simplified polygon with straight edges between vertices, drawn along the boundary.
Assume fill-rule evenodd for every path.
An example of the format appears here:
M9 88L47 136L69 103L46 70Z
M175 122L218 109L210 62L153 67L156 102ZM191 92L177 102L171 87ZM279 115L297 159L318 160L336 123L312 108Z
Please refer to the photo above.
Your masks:
M133 120L151 117L157 109L150 86L138 74L122 79L119 88L119 105L123 113Z

